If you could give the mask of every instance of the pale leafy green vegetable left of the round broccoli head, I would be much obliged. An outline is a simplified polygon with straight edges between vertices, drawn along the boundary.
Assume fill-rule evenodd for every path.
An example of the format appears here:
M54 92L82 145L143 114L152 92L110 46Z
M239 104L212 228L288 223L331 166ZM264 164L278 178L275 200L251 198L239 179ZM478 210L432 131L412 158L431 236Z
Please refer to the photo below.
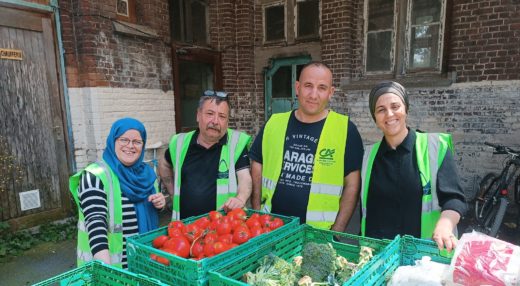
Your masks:
M296 271L291 263L274 254L269 254L260 261L260 266L255 273L247 272L245 278L247 284L250 285L286 286L294 284Z

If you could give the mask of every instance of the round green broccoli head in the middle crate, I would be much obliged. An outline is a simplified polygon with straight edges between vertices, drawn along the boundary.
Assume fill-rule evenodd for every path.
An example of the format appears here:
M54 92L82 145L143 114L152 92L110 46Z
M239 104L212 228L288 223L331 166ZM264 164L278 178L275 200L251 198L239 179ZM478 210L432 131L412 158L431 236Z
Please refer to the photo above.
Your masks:
M327 281L336 271L336 250L330 243L308 242L303 246L302 276L309 276L312 281Z

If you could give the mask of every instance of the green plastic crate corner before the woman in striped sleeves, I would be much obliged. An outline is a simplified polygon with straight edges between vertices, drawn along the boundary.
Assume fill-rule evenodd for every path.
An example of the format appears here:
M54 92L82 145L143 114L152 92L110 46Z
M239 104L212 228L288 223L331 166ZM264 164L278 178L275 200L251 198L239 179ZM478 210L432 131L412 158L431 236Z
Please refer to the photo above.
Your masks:
M142 274L135 274L129 271L104 264L94 260L81 267L72 269L45 281L34 284L35 286L46 285L92 285L92 286L148 286L166 285L161 281L149 278Z

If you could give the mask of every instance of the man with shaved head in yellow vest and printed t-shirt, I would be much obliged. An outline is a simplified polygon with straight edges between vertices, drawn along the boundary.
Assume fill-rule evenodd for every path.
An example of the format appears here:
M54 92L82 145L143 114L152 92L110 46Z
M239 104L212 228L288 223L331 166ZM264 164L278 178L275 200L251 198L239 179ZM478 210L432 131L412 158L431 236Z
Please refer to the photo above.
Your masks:
M254 209L344 231L359 197L363 143L348 116L328 108L332 72L305 65L295 85L298 109L273 114L251 147Z

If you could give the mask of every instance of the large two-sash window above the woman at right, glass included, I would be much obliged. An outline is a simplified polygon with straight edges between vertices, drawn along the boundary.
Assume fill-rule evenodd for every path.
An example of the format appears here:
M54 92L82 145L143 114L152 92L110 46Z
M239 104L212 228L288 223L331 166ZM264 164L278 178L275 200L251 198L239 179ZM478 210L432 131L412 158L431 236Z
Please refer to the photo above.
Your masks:
M445 9L446 0L368 0L366 73L440 72Z

